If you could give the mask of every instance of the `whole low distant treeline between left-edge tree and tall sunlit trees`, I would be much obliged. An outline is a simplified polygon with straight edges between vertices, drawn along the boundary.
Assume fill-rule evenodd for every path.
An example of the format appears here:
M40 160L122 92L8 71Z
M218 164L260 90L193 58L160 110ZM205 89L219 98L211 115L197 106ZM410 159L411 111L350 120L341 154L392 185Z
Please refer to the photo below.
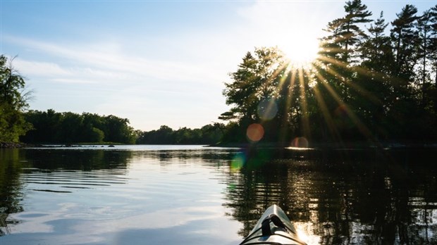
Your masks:
M115 115L93 113L59 113L27 111L26 122L32 129L20 137L28 144L107 143L122 144L216 144L221 142L225 125L214 123L199 129L182 127L173 130L161 126L159 130L140 131L129 126L129 120Z

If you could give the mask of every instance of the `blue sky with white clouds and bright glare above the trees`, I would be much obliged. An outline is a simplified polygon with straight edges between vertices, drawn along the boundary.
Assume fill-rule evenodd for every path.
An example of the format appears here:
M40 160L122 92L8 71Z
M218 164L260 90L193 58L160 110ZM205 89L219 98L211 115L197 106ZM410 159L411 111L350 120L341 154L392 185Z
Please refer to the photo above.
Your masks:
M406 4L362 1L376 19ZM312 48L345 1L0 0L0 54L32 91L32 110L128 118L136 130L198 128L230 108L222 95L247 51ZM390 26L387 28L390 29ZM305 48L305 49L304 49Z

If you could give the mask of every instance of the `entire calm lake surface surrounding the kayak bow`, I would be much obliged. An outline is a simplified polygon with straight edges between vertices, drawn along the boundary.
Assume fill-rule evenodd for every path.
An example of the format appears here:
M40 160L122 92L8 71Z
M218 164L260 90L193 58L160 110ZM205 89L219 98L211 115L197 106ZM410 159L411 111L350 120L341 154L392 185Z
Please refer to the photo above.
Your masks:
M0 244L239 244L273 203L309 244L437 244L435 149L0 149Z

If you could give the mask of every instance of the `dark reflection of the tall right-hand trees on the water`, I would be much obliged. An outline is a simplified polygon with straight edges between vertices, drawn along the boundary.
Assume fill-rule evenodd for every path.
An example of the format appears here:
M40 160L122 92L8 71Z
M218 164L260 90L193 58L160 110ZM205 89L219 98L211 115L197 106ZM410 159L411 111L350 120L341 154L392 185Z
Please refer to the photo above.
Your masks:
M259 154L259 153L257 153ZM294 152L232 172L225 205L247 235L271 203L314 244L436 244L433 151Z

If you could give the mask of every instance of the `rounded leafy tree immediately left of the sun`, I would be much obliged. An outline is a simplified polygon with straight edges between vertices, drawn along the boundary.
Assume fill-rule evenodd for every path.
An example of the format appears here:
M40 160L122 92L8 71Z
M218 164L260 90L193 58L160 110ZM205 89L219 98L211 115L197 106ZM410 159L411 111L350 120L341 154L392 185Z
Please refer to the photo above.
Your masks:
M259 48L255 49L254 54L247 52L242 63L238 65L238 70L230 73L233 82L225 83L223 95L226 96L226 103L233 107L222 113L219 119L238 121L239 135L245 135L242 132L245 132L248 125L265 122L266 117L262 114L268 113L272 106L280 107L278 103L281 103L284 71L285 59L278 49ZM278 108L275 111L279 114L274 120L280 122L283 111ZM269 127L271 124L273 127L276 122L266 122L265 126ZM230 126L230 131L234 130L234 126ZM268 135L272 130L266 132ZM240 141L243 140L244 137L240 138Z

